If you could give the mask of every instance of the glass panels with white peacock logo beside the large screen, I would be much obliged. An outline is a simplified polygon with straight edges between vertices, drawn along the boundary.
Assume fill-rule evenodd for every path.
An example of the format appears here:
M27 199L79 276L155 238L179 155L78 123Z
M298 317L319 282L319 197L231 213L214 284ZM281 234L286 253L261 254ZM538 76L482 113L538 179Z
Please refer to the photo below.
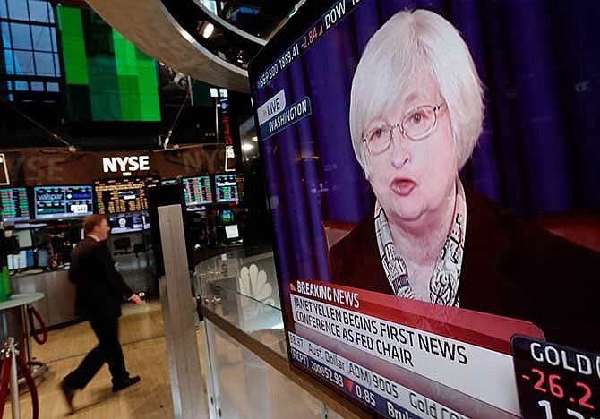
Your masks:
M193 292L219 319L287 363L270 248L227 252L202 261L194 270ZM212 418L341 417L215 322L207 318L202 323L198 338Z

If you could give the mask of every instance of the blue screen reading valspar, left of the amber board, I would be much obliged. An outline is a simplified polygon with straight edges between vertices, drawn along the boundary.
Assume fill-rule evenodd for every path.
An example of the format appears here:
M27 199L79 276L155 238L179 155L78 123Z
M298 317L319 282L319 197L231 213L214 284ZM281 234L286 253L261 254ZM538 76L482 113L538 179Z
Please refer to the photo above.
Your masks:
M92 186L35 186L33 202L36 219L85 217L93 213Z

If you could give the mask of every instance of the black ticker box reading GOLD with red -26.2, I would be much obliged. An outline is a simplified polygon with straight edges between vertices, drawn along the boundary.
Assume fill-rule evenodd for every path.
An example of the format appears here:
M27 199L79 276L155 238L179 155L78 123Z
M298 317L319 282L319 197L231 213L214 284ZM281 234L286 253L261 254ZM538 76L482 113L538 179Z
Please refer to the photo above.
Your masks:
M600 419L600 355L515 337L513 360L525 419Z

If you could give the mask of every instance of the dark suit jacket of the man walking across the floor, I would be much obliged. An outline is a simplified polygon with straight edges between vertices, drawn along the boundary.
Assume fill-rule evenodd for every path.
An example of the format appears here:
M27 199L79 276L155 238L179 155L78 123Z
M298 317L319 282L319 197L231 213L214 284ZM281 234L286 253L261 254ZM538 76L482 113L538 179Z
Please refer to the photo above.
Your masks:
M106 241L86 236L71 253L69 280L76 286L75 312L94 319L117 319L121 303L133 295L115 269Z

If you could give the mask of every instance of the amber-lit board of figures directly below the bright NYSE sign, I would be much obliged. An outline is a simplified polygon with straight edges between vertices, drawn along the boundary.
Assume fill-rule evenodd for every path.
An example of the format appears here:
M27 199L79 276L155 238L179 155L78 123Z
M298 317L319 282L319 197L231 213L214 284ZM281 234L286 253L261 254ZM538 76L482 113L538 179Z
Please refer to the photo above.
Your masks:
M99 214L141 212L148 209L145 188L147 178L123 178L94 182L96 206ZM150 184L156 184L152 179Z

